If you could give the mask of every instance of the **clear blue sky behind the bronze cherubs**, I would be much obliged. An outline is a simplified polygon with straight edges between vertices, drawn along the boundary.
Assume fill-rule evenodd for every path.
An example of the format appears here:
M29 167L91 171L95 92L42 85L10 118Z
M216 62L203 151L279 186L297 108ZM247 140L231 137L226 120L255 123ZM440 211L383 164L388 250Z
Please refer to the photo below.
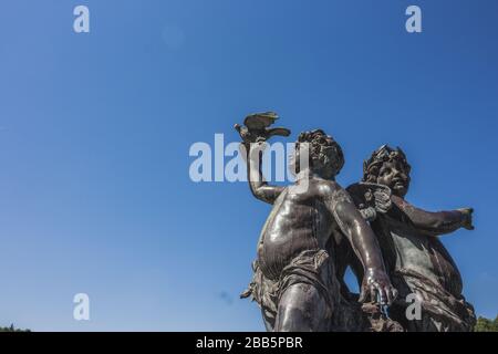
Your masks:
M85 4L91 32L73 31ZM423 32L405 31L405 9ZM0 325L38 331L258 331L238 299L269 206L194 184L195 142L273 110L322 127L361 178L381 144L413 166L407 199L471 206L443 239L465 295L498 313L498 3L3 1ZM289 139L288 139L289 140ZM73 320L73 295L91 321Z

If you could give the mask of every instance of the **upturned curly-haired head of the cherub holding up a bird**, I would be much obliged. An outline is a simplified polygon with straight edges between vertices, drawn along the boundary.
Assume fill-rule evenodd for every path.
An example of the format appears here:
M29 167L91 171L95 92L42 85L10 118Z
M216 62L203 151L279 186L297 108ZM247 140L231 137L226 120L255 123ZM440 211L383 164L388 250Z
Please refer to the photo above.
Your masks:
M322 129L303 132L295 142L295 153L292 157L295 173L301 170L300 154L304 152L303 143L308 143L310 170L322 178L331 179L339 174L344 166L344 155L341 146Z

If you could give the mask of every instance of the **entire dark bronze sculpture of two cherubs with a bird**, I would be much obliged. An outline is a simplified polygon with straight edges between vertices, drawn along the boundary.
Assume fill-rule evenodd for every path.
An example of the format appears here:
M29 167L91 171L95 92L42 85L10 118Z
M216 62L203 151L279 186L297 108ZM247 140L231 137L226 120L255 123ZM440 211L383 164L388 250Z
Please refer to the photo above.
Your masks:
M473 308L436 237L473 229L473 210L428 212L409 205L404 199L409 165L401 149L387 146L365 162L361 183L343 189L335 181L342 149L321 129L303 132L295 142L295 183L269 185L261 171L264 142L290 135L287 128L270 128L277 118L273 112L252 114L235 126L250 190L272 205L252 281L241 294L259 304L267 330L469 331ZM301 154L308 166L300 166ZM349 266L361 294L344 283ZM419 320L406 317L408 294L421 301Z

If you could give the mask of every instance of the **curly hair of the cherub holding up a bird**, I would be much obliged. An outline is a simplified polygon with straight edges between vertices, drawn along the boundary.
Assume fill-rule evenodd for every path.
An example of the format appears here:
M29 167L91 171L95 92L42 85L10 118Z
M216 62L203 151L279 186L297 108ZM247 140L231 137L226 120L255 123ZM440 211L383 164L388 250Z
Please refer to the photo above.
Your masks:
M299 134L298 140L295 142L295 154L293 154L295 173L300 171L299 150L300 144L302 143L309 144L309 164L311 168L317 168L320 166L320 163L324 164L328 159L326 163L332 165L333 175L335 176L344 166L344 154L342 153L341 146L322 129L314 129ZM328 152L329 149L332 149L332 154ZM330 158L331 156L333 156L333 158Z

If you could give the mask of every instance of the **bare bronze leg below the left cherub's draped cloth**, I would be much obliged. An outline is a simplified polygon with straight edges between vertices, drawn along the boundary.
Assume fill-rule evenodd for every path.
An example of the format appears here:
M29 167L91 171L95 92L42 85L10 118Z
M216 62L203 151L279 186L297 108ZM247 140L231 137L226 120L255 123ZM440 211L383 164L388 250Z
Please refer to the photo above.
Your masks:
M329 331L331 309L312 284L290 285L280 298L276 332L324 332Z

